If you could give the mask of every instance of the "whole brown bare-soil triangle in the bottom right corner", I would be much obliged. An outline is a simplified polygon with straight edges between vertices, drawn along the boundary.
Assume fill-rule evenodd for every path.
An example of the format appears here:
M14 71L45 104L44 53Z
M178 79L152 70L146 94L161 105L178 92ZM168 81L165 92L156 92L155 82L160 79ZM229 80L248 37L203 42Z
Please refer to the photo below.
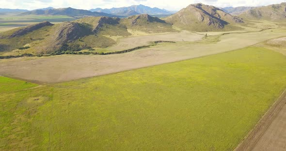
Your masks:
M286 90L257 122L235 151L286 150Z

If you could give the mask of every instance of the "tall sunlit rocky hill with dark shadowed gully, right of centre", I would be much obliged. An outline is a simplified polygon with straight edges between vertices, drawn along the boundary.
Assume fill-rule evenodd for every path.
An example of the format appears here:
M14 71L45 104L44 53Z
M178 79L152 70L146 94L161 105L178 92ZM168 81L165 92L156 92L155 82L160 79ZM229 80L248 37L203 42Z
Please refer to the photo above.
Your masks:
M243 23L237 16L201 3L191 4L165 20L180 29L194 31L233 30L230 23Z

